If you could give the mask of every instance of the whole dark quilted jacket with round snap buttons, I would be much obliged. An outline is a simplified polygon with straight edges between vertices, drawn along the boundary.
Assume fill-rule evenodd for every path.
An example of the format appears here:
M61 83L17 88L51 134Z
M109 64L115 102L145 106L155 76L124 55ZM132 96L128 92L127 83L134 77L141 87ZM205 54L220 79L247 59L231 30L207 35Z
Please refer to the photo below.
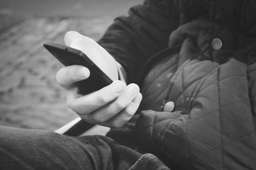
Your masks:
M254 0L146 0L116 18L99 43L143 101L108 135L171 169L256 169L255 9Z

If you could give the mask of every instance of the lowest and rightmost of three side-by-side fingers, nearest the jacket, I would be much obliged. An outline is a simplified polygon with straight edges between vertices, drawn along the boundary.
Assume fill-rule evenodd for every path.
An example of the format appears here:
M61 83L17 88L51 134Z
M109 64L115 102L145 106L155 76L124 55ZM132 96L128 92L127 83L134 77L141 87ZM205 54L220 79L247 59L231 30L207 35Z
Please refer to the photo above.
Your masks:
M141 99L142 95L139 93L124 110L118 113L118 115L115 117L111 118L108 122L106 122L106 124L111 127L122 127L125 125L138 110Z

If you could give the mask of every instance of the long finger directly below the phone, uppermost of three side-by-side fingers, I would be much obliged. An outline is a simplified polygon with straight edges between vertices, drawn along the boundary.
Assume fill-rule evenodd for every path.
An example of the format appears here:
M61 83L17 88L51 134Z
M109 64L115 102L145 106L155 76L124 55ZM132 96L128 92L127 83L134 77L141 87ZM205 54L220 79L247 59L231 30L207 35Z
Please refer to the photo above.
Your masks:
M124 81L116 80L96 92L70 101L70 108L79 115L91 113L120 96L125 87Z

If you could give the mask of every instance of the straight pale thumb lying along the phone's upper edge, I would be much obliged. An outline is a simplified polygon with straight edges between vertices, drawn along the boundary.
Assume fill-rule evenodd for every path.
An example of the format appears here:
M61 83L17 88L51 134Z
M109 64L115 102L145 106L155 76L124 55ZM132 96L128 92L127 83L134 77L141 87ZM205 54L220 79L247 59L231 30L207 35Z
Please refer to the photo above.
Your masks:
M118 79L116 60L96 41L76 31L68 31L64 41L65 45L85 53L109 78Z

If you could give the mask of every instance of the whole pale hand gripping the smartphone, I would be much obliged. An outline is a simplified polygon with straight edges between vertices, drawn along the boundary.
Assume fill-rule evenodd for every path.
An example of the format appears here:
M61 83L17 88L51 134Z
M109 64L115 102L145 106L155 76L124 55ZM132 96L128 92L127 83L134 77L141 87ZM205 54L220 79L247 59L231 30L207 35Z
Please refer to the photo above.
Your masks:
M109 61L111 64L111 60L116 62L115 59L106 57L108 52L102 50L103 48L95 41L77 32L68 32L65 36L65 43L72 48L83 51L91 59L97 58L98 62L100 59L103 64ZM97 66L100 65L99 63L96 64ZM112 65L115 66L113 63ZM134 83L126 86L123 81L116 80L117 76L113 75L115 71L106 71L109 67L100 68L108 76L111 77L112 75L113 83L85 96L78 93L74 83L90 76L90 71L86 67L77 65L63 67L56 74L56 80L67 90L68 106L83 120L107 127L122 127L132 118L140 105L142 99L140 88Z

